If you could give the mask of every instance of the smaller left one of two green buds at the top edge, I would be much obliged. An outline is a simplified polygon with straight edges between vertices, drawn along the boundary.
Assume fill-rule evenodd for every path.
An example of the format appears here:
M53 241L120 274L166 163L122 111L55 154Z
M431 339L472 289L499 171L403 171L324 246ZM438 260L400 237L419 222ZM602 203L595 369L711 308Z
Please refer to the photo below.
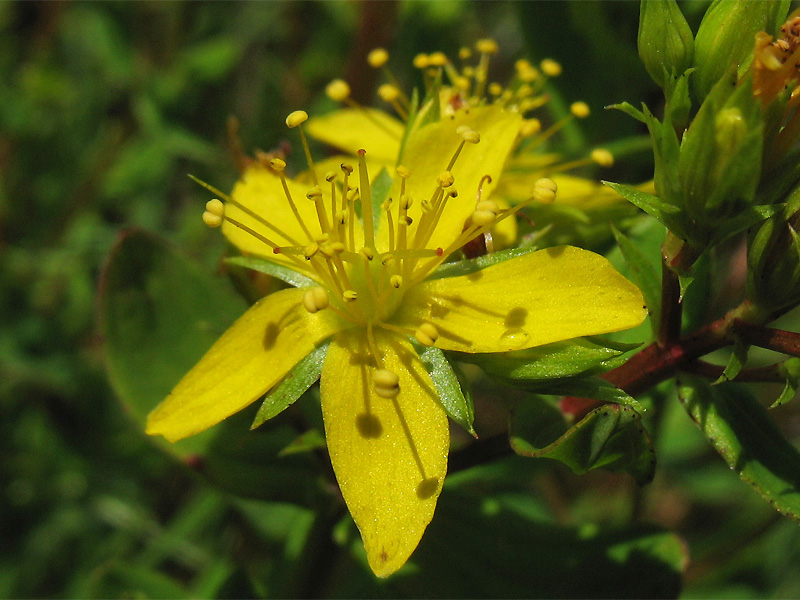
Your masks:
M639 9L639 56L660 87L692 64L694 38L675 0L642 0Z

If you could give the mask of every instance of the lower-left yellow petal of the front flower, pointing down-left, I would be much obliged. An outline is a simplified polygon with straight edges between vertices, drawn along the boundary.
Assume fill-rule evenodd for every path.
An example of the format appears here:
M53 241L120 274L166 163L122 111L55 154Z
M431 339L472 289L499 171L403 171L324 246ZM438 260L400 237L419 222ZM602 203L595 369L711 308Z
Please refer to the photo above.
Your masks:
M147 419L147 433L176 441L216 425L278 383L341 324L303 308L305 289L253 305L200 359Z

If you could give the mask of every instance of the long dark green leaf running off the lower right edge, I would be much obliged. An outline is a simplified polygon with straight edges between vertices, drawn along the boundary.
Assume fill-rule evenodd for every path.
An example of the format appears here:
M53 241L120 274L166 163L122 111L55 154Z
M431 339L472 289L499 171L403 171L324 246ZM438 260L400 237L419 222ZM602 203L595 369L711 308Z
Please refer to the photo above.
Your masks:
M687 376L679 398L714 449L779 512L800 520L800 453L743 386Z

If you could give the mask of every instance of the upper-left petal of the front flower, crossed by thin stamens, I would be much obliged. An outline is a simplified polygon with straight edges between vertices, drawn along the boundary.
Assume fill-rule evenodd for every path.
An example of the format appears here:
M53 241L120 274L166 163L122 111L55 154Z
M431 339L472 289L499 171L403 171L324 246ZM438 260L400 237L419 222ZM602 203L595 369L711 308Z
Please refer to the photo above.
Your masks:
M324 175L324 173L319 174L320 188L324 213L330 223L332 220L330 184L322 179ZM297 209L299 219L292 210L292 203L287 198L280 177L257 165L245 171L233 188L231 195L236 202L260 217L261 221L231 203L225 205L225 216L239 221L279 246L308 246L313 240L319 239L322 234L315 204L306 197L312 186L287 178L286 187L292 203ZM337 192L336 202L337 207L341 209L342 198L339 192ZM305 224L308 234L303 230L300 221ZM302 256L292 259L286 254L274 254L269 245L227 221L222 225L222 232L243 253L264 256L314 277L314 271ZM309 239L309 234L311 239ZM355 220L355 238L357 244L363 244L363 230L357 219Z

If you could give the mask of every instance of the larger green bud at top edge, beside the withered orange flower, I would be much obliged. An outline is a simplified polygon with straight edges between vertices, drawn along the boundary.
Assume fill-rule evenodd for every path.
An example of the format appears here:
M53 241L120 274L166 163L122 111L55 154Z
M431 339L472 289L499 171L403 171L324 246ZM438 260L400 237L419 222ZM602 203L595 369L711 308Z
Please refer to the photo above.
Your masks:
M756 33L773 33L788 10L788 0L714 0L695 37L697 98L702 101L732 66L743 73L753 59Z

